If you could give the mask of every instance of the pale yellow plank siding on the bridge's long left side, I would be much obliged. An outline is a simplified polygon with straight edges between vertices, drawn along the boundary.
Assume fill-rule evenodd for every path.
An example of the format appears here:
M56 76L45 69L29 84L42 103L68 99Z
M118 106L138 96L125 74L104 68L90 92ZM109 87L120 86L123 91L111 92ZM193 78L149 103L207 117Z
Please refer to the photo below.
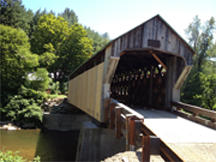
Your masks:
M104 63L69 81L68 102L101 121L101 94ZM103 113L103 112L102 112Z

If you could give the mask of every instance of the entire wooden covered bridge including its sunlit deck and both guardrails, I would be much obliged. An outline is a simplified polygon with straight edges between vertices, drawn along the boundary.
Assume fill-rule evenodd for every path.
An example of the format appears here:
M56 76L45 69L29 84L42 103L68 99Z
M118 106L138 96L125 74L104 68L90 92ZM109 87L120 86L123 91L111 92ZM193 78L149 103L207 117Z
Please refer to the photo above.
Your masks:
M126 138L127 150L139 145L141 133L143 161L152 152L166 161L216 161L216 112L180 102L195 54L156 15L78 67L70 75L68 101L115 128L116 138Z

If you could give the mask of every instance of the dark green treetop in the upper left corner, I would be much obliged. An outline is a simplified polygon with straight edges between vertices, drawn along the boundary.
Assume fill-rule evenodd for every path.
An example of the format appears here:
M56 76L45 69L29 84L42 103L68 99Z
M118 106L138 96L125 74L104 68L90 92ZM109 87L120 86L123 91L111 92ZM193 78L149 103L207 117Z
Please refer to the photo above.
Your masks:
M0 1L0 24L22 28L27 34L30 30L30 21L33 18L31 10L26 11L20 0Z

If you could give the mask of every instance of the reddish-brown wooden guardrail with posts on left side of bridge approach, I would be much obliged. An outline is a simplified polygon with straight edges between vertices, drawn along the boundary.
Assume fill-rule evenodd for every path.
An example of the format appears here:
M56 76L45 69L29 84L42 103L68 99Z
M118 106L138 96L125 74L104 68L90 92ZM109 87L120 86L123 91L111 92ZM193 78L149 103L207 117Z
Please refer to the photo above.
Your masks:
M116 138L126 138L126 150L142 147L142 162L149 162L150 155L161 155L167 162L183 160L145 124L143 115L112 99L104 100L105 119L109 128L115 129Z

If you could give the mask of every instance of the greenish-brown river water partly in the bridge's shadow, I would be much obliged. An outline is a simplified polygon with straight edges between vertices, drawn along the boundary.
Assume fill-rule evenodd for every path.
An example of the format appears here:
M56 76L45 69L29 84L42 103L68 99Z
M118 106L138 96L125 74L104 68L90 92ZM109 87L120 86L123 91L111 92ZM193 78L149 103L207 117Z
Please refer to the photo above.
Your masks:
M75 161L79 131L0 130L0 149L19 151L25 159L41 162Z

